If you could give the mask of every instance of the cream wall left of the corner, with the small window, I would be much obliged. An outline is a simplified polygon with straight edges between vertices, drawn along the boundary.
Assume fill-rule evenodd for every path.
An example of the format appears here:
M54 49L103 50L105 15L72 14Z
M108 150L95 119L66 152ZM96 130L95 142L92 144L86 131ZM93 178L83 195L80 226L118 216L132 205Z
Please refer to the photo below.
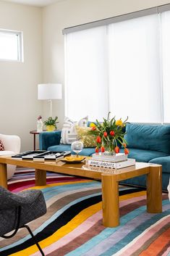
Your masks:
M25 151L33 149L29 132L42 115L42 9L0 1L0 28L23 31L24 62L0 61L0 133L19 135Z

